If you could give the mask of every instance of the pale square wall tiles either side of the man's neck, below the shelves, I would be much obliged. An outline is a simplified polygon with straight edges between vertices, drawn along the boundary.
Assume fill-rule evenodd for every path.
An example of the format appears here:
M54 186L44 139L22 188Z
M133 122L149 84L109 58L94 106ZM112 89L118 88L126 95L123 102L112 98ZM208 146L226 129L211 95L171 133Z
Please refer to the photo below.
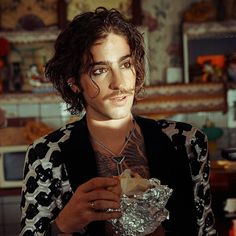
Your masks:
M60 127L71 117L65 103L3 104L0 107L5 110L7 118L35 117L52 128ZM178 114L167 119L188 122L199 128L209 119L218 127L228 127L228 113L222 112Z

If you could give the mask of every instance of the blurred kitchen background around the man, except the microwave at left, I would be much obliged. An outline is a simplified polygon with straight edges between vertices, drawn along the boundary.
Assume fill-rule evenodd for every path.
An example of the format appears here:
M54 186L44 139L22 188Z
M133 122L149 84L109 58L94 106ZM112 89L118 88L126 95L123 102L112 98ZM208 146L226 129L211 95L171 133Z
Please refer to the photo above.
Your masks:
M236 203L226 207L236 196L236 1L0 0L0 147L28 145L80 118L67 112L44 65L65 25L98 6L120 9L144 34L146 88L134 113L207 134L219 235L236 235ZM0 193L0 235L18 235L20 190Z

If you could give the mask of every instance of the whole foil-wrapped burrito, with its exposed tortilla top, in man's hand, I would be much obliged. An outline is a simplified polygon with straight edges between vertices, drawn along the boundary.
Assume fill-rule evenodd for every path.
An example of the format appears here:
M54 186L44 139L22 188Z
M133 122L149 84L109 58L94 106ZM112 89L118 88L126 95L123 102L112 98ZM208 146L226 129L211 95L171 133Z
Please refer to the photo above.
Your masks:
M119 177L122 196L119 219L111 220L113 229L121 236L143 236L156 230L168 218L165 205L172 189L158 179L144 179L126 169Z

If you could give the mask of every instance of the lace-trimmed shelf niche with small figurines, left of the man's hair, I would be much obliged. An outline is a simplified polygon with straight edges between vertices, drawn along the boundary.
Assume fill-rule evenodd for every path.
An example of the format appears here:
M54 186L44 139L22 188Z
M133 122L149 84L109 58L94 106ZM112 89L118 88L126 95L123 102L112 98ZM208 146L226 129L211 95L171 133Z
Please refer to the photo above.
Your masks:
M0 68L3 93L52 91L44 65L53 54L58 34L59 30L0 32L0 38L10 44L6 63Z

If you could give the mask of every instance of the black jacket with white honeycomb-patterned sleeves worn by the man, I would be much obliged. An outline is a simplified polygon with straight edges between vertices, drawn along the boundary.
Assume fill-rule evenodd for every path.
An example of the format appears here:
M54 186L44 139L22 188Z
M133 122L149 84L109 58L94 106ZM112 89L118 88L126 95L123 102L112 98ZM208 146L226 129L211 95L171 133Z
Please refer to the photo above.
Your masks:
M211 209L207 138L187 123L135 117L145 141L150 175L173 189L163 225L182 236L217 235ZM86 158L85 158L86 157ZM75 189L97 176L86 119L29 146L22 187L21 236L45 235ZM94 222L77 235L104 235Z

